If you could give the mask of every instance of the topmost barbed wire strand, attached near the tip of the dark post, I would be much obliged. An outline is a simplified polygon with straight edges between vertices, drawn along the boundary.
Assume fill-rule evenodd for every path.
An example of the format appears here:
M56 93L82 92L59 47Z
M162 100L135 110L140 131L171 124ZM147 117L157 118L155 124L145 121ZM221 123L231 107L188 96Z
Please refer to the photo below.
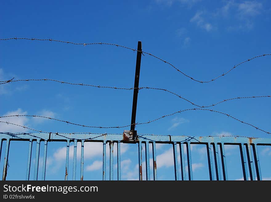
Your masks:
M101 44L101 45L102 45L102 44L105 44L105 45L112 45L112 46L116 46L116 47L123 47L123 48L129 49L129 50L132 50L132 51L134 51L134 52L137 51L136 49L133 49L133 48L130 48L130 47L126 47L126 46L122 46L122 45L119 45L119 44L114 44L114 43L73 43L73 42L60 41L60 40L54 40L54 39L34 39L34 38L31 38L31 39L30 39L30 38L16 38L16 37L15 37L15 38L0 39L0 41L1 41L1 40L2 40L2 41L3 41L3 40L11 40L11 39L16 39L16 40L17 40L17 39L26 39L26 40L39 40L39 41L54 41L54 42L71 43L71 44L74 44L74 45L83 45L83 46L86 46L86 45L93 45L93 44ZM142 54L145 53L145 54L147 54L147 55L149 55L149 56L152 56L152 57L154 57L154 58L156 58L156 59L158 59L158 60L160 60L160 61L162 61L162 62L164 62L164 63L166 63L166 64L169 64L170 66L172 66L175 70L177 70L178 72L180 72L180 73L183 74L184 76L186 76L186 77L192 79L193 81L199 82L199 83L209 83L209 82L212 82L212 81L214 81L214 80L220 78L221 76L225 76L226 74L228 74L229 72L231 72L233 69L235 69L235 68L238 67L239 65L241 65L241 64L243 64L243 63L246 63L246 62L248 62L248 61L250 61L250 60L253 60L253 59L255 59L255 58L259 58L259 57L263 57L263 56L271 56L271 54L263 54L263 55L260 55L260 56L255 56L255 57L253 57L253 58L250 58L250 59L248 59L248 60L245 60L245 61L243 61L243 62L240 62L240 63L237 64L237 65L234 65L233 68L229 69L226 73L223 73L223 74L221 74L221 75L215 77L214 79L211 79L211 80L208 80L208 81L200 81L200 80L196 80L196 79L192 78L191 76L188 76L188 75L185 74L184 72L180 71L180 69L176 68L173 64L169 63L169 62L166 61L166 60L161 59L160 57L157 57L157 56L155 56L155 55L153 55L153 54L151 54L151 53L144 52L144 51L138 51L138 52L141 52Z

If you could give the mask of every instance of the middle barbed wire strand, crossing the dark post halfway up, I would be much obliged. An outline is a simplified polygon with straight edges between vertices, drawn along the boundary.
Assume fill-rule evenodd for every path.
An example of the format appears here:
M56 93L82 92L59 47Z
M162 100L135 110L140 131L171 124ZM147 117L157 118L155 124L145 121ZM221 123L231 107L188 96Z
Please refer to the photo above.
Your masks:
M14 79L14 78L13 78ZM220 103L229 101L229 100L235 100L235 99L245 99L245 98L260 98L260 97L271 97L271 95L265 95L265 96L250 96L250 97L234 97L234 98L230 98L230 99L224 99L220 102L217 102L216 104L212 104L212 105L208 105L208 106L204 106L204 105L197 105L195 103L193 103L192 101L189 101L188 99L178 95L177 93L174 93L172 91L169 91L167 89L161 89L161 88L152 88L152 87L140 87L140 88L119 88L119 87L112 87L112 86L100 86L100 85L90 85L90 84L83 84L83 83L71 83L71 82L66 82L66 81L60 81L60 80L55 80L55 79L20 79L20 80L6 80L6 81L0 81L0 85L1 84L6 84L6 83L10 83L10 82L18 82L18 81L54 81L54 82L58 82L61 84L69 84L69 85L81 85L81 86L91 86L91 87L96 87L96 88L109 88L109 89L122 89L122 90L132 90L132 89L153 89L153 90L160 90L160 91L165 91L167 93L170 93L172 95L175 95L189 103L191 103L194 106L200 107L200 108L206 108L206 107L212 107L215 105L218 105Z

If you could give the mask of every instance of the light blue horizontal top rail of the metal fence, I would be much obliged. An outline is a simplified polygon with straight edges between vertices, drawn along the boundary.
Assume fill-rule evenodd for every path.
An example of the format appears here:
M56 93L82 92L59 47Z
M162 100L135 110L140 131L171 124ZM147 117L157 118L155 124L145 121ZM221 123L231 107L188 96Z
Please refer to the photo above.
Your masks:
M271 138L253 138L244 136L172 136L172 135L138 135L135 141L125 137L124 134L47 134L47 133L0 133L0 139L32 141L40 139L42 141L63 141L73 142L156 142L156 143L224 143L224 144L259 144L271 145Z

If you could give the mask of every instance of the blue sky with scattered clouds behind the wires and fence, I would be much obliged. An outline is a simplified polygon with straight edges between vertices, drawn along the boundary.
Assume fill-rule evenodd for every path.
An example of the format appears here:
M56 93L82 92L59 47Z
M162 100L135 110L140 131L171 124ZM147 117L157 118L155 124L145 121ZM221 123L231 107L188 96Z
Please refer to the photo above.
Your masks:
M104 42L135 49L140 40L143 51L170 62L197 80L213 79L242 61L271 53L271 3L267 0L7 1L1 2L0 9L1 39L26 37L75 43ZM121 47L14 39L1 41L0 46L0 80L46 78L124 88L134 85L136 53ZM270 95L270 56L241 64L226 76L201 84L170 65L144 55L140 87L167 89L198 105L211 105L233 97ZM1 116L34 114L92 126L123 126L131 122L133 92L127 90L29 81L1 85L0 96ZM270 132L270 99L233 100L210 109ZM148 122L191 108L195 107L172 94L142 89L138 95L136 121ZM88 130L41 118L12 117L1 118L1 121L52 132L123 132L123 129ZM4 123L0 123L0 130L31 132ZM138 125L136 130L144 134L269 138L268 134L251 126L209 111L177 113ZM63 147L66 144L50 144L46 179L64 179ZM122 146L122 179L137 178L136 149L133 145ZM8 173L7 179L25 179L27 152L27 142L11 143L9 172L13 174ZM85 179L102 179L101 152L99 145L85 147ZM174 179L171 154L172 146L158 146L159 179ZM229 179L242 178L238 148L229 146L226 154ZM271 179L268 171L270 146L260 147L259 155L263 162L262 175ZM194 179L208 179L207 154L201 146L192 149L192 161L195 163ZM2 164L1 161L0 166ZM22 169L17 171L18 167Z

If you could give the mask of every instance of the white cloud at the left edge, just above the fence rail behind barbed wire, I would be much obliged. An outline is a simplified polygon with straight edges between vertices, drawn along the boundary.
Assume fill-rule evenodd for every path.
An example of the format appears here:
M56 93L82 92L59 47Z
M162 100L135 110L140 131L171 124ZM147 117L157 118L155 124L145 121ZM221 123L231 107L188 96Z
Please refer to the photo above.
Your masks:
M22 109L18 108L16 111L10 111L6 114L3 114L2 116L11 116L11 115L26 115L26 111L23 111ZM1 118L0 121L3 122L10 122L14 123L20 126L27 126L26 124L29 122L29 119L27 117L4 117ZM10 132L10 133L17 133L17 132L27 132L28 129L24 129L20 126L15 126L12 124L7 123L0 123L0 131L1 132Z

